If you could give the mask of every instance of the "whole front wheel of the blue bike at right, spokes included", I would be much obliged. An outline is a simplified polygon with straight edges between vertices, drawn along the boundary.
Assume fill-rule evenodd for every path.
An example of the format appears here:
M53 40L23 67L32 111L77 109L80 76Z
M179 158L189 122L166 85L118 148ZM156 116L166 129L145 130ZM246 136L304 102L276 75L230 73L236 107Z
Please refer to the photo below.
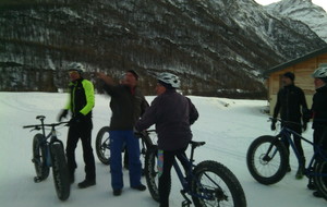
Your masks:
M269 185L279 182L287 173L289 155L276 137L261 136L250 145L246 163L257 182Z

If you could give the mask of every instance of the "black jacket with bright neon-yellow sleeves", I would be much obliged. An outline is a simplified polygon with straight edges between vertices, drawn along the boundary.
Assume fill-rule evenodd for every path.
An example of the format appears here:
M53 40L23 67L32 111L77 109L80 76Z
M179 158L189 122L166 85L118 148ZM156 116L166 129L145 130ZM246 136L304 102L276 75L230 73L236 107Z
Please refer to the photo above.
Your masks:
M95 105L94 86L93 83L80 78L71 82L70 85L70 98L65 106L65 109L71 110L72 117L76 117L82 113L84 118L92 118L92 109Z

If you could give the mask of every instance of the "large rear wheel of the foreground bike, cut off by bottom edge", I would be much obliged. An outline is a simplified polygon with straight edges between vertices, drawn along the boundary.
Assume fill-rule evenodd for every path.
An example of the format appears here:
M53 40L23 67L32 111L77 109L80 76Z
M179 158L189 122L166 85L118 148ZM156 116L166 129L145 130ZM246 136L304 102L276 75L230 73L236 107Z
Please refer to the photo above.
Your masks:
M246 207L244 191L237 176L223 165L203 161L193 170L192 199L194 206Z

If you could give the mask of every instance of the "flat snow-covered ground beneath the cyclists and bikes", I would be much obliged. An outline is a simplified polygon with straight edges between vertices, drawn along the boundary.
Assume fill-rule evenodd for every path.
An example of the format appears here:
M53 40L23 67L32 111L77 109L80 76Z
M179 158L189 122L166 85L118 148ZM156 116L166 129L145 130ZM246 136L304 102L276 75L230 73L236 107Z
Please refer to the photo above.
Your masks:
M154 97L147 97L152 101ZM249 173L245 162L251 142L263 134L274 134L267 122L268 115L262 111L267 102L262 100L231 100L223 98L190 97L199 112L198 121L192 126L194 139L207 144L196 149L195 159L213 159L227 166L240 180L249 207L323 207L326 200L315 198L306 190L306 179L295 180L298 168L291 157L292 172L274 185L257 183ZM76 183L84 179L84 162L81 144L76 150L78 168L76 182L72 185L71 196L60 202L55 192L52 175L34 183L35 175L32 158L32 138L35 132L23 130L26 124L38 123L37 114L45 114L46 121L56 122L58 112L65 104L66 94L48 93L0 93L0 203L4 207L52 207L52 206L96 206L96 207L153 207L158 206L148 191L136 192L129 187L129 173L124 171L125 188L119 197L112 195L109 167L96 157L97 185L80 190ZM109 124L111 111L109 98L96 95L94 108L93 144L98 130ZM66 127L59 129L59 138L65 142ZM312 130L304 133L312 137ZM312 148L304 144L305 155L312 155ZM96 156L96 155L95 155ZM174 172L172 172L174 174ZM145 180L143 178L143 183ZM173 175L170 205L181 206L181 186Z

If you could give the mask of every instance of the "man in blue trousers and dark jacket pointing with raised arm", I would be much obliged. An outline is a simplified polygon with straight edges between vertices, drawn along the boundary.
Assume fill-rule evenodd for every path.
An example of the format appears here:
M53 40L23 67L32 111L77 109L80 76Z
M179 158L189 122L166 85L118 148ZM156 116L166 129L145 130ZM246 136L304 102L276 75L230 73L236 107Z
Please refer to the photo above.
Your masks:
M140 143L134 136L134 125L147 107L147 102L137 87L138 75L130 70L125 73L122 84L114 85L111 77L104 73L97 74L104 81L104 89L111 97L110 108L110 171L113 195L119 196L123 188L121 151L125 143L129 151L129 173L132 188L145 191L141 183L142 165L140 160Z

